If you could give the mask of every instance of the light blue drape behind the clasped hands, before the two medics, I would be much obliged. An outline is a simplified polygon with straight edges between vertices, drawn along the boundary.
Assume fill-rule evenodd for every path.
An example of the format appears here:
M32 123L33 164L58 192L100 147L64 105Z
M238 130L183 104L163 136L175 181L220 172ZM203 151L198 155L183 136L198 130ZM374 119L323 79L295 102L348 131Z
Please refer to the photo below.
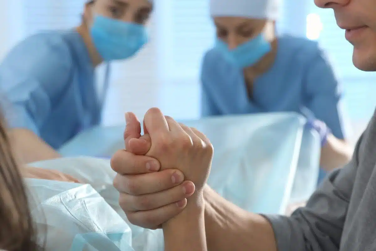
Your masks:
M214 160L208 184L240 207L284 213L317 186L320 140L295 113L212 117L179 121L208 136ZM124 148L125 126L96 127L77 135L59 152L66 157L109 157ZM226 187L226 188L224 188Z

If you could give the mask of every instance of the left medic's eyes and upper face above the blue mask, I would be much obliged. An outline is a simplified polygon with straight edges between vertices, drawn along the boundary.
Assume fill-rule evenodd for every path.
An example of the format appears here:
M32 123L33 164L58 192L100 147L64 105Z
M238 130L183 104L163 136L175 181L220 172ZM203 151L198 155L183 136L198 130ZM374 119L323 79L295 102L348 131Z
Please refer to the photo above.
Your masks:
M148 0L95 0L86 5L85 16L91 23L93 14L129 23L146 24L153 6Z

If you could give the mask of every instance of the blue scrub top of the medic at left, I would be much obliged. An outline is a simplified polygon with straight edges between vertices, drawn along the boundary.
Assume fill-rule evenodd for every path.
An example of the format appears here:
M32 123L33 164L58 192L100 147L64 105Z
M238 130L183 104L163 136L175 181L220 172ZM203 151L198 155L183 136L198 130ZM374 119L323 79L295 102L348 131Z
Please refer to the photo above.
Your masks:
M0 90L12 128L27 128L55 149L100 123L94 67L75 30L33 35L0 65Z

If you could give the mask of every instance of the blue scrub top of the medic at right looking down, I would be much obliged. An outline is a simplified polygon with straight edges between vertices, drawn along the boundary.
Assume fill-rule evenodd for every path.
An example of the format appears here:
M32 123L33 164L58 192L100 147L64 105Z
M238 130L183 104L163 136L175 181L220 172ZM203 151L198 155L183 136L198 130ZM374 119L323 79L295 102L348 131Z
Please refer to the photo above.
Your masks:
M209 50L202 66L202 116L294 111L306 106L335 137L348 137L343 90L324 52L315 41L278 38L273 66L253 82L249 98L243 71Z

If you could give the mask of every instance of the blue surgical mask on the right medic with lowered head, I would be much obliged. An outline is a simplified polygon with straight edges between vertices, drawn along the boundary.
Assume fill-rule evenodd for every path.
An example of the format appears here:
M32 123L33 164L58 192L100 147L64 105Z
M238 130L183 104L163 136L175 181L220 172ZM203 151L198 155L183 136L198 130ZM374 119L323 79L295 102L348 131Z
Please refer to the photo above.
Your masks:
M242 69L252 66L271 50L270 43L265 40L262 34L233 50L230 50L228 45L220 39L217 39L215 47L229 62Z

